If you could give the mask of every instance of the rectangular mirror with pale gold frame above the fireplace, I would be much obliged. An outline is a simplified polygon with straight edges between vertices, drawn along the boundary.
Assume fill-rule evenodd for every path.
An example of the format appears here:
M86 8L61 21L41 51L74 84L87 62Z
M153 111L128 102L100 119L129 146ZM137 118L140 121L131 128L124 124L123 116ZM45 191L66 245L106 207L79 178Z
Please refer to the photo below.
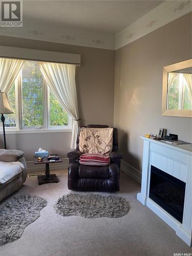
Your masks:
M163 68L162 115L192 117L192 59Z

